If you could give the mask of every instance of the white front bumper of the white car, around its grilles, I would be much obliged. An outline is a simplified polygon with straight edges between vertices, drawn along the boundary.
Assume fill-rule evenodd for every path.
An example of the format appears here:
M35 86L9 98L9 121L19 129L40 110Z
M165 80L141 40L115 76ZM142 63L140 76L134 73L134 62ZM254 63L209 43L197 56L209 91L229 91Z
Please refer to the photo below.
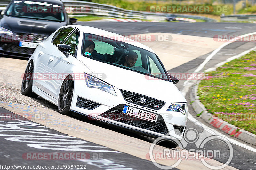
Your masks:
M86 115L92 120L122 127L147 136L160 137L167 134L168 138L174 140L181 140L183 137L187 122L187 108L184 115L180 112L166 111L170 103L164 103L158 110L143 107L135 102L127 102L123 97L122 90L120 91L116 88L116 96L99 89L78 89L84 89L84 91L75 90L71 104L71 111L73 112ZM86 99L85 96L87 96ZM99 98L98 96L101 97ZM124 105L159 115L157 122L142 120L124 114L122 112Z

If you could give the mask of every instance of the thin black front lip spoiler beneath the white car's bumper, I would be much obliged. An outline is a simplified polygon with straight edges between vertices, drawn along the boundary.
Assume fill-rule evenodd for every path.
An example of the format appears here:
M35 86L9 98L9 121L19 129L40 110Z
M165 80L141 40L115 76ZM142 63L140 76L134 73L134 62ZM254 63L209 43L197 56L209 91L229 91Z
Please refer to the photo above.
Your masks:
M151 134L151 133L144 132L144 131L141 131L141 130L136 130L136 129L132 129L132 128L129 128L129 127L126 127L126 126L123 126L123 125L119 125L119 124L116 124L116 123L113 123L113 122L104 121L104 120L101 120L99 118L92 117L90 115L85 115L83 113L80 113L80 112L77 112L77 111L74 111L74 110L70 110L70 111L74 112L74 113L77 113L77 114L84 115L84 116L89 117L89 118L92 118L92 119L94 119L94 120L96 120L96 121L98 121L100 123L107 124L107 125L114 126L114 127L118 126L118 127L122 128L122 129L125 129L125 130L128 130L128 131L132 131L132 132L141 133L141 134L143 134L145 136L148 136L148 137L156 137L156 138L157 137L161 137L161 136L158 136L158 135L155 135L155 134Z

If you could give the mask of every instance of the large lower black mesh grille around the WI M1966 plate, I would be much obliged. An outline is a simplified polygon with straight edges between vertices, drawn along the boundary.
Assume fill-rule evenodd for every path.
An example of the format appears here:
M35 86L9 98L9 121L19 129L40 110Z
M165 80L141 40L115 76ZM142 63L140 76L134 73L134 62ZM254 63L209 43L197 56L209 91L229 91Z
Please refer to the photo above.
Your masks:
M101 114L101 117L114 120L117 122L122 122L128 125L132 125L138 128L147 129L153 132L167 134L168 129L164 123L164 119L161 115L158 116L157 122L150 122L146 120L141 120L139 118L134 118L129 115L125 115L122 110L124 108L124 104L120 104L112 109L106 111L105 113Z

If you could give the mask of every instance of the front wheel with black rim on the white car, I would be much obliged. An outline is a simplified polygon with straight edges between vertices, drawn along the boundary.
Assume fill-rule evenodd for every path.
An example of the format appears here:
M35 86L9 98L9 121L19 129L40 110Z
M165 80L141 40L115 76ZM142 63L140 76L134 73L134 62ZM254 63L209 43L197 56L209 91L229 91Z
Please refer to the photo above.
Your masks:
M74 81L72 76L68 76L61 88L60 88L60 95L58 100L58 111L63 115L71 115L70 113L70 106L73 96L74 90Z

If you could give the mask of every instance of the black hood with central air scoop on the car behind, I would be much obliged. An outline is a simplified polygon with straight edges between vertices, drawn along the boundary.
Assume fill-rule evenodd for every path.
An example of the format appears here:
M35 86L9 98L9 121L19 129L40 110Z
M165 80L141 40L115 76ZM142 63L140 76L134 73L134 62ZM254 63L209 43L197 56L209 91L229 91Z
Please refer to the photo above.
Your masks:
M0 26L15 33L35 33L51 35L60 26L65 26L65 22L54 22L40 19L19 18L3 15Z

